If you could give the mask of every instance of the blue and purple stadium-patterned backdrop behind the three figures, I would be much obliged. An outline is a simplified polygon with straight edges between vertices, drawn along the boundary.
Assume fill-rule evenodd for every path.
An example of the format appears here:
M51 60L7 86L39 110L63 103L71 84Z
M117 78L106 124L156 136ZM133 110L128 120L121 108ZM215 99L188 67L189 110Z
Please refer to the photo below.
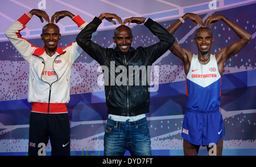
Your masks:
M147 2L147 5L146 5ZM134 6L134 4L137 4ZM83 7L84 5L85 7ZM42 8L51 16L55 11L69 10L79 14L86 22L101 12L112 12L122 17L150 17L168 28L185 12L195 12L206 19L212 14L222 14L249 32L249 44L225 63L222 76L220 111L224 118L225 136L223 155L256 155L256 56L255 56L255 1L8 1L0 6L0 155L26 155L31 105L27 102L28 65L4 36L6 29L24 12ZM14 11L11 12L10 11ZM45 23L33 17L22 31L32 44L43 46L40 40ZM3 25L3 26L2 26ZM61 31L60 47L75 41L77 25L69 18L58 24ZM103 22L93 41L104 47L115 47L112 36L117 25ZM130 25L133 47L149 46L158 38L144 25ZM193 44L194 24L186 21L174 34L179 44L197 54ZM212 26L214 42L211 53L238 40L237 35L224 22ZM153 78L159 81L152 87L150 113L147 114L151 135L152 155L183 155L181 126L185 104L185 74L183 63L170 51L155 62ZM71 126L71 155L103 155L106 113L104 86L98 82L101 72L96 61L83 53L72 67L71 101L68 115ZM154 80L153 79L153 80ZM47 145L50 154L51 143ZM126 152L129 155L129 152ZM201 147L199 155L207 155Z

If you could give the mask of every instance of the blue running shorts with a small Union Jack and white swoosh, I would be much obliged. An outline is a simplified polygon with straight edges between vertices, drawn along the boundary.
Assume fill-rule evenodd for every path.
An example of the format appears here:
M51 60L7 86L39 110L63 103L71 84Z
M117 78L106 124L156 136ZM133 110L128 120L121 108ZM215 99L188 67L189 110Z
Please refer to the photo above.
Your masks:
M218 109L212 111L187 109L181 129L184 140L195 145L213 145L220 142L224 135L223 118Z

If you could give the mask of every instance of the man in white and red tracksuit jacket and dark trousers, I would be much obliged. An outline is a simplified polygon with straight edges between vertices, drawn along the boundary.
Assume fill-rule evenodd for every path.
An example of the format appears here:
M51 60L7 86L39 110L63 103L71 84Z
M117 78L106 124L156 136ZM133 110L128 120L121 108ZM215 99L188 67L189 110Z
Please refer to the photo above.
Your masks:
M42 30L41 38L44 47L32 45L21 37L20 31L26 28L26 23L36 15L49 24ZM67 103L69 102L69 80L73 62L82 54L83 50L73 42L66 48L59 48L57 43L61 37L57 23L65 16L69 16L83 29L88 23L79 15L69 11L59 11L49 20L49 16L42 10L31 10L21 16L5 32L5 35L28 63L29 87L28 102L31 103L30 130L28 155L38 155L41 148L39 143L51 141L51 155L70 155L70 128Z

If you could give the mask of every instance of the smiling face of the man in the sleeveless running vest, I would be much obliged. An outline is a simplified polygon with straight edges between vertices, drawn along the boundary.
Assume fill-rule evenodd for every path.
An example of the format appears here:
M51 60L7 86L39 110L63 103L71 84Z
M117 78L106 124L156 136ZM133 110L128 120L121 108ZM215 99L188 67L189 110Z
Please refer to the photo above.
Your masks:
M209 53L213 40L212 31L209 28L197 29L194 42L197 45L199 53L203 55Z

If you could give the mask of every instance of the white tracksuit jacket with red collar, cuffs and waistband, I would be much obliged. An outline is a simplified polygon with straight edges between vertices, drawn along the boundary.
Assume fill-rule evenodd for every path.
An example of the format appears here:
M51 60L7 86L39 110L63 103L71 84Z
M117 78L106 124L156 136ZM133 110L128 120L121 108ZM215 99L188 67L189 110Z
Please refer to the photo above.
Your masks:
M57 80L52 84L43 81L42 73L45 60L42 55L44 54L44 47L34 46L20 35L20 31L26 28L26 24L30 19L27 14L24 14L7 29L5 35L29 65L28 102L31 103L31 112L67 113L67 103L70 100L69 80L71 78L71 67L83 50L76 42L64 49L57 47L56 52L58 55L54 62L58 63L53 63ZM78 25L79 29L83 29L88 24L79 15L72 20Z

